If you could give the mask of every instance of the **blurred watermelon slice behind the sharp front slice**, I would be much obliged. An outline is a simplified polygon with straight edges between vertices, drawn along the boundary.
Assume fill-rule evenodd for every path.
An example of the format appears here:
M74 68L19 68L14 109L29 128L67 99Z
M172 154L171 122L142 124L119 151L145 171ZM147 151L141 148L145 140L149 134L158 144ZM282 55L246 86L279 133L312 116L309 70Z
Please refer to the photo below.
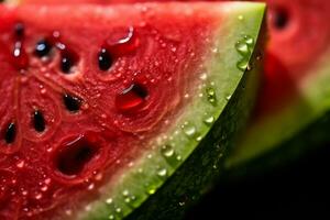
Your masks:
M255 117L227 166L239 174L329 142L330 2L267 0L271 41ZM261 164L262 167L261 167Z

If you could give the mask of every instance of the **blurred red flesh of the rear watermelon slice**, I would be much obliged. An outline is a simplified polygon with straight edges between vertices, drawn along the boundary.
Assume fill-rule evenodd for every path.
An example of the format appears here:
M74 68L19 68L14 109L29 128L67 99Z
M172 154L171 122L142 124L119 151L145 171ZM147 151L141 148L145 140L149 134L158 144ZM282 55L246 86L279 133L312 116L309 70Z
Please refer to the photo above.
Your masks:
M63 4L79 2L134 3L141 1L143 0L24 0L23 2ZM329 44L330 3L328 1L266 0L266 2L270 9L271 41L265 63L265 81L255 120L273 111L280 111L287 106L287 102L299 96L297 85L306 75L312 74L309 68L315 65Z

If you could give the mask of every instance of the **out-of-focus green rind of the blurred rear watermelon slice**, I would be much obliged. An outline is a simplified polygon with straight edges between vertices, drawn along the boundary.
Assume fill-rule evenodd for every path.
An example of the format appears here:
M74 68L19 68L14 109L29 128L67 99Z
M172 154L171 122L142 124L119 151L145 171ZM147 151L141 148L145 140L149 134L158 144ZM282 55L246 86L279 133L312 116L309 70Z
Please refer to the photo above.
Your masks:
M329 55L330 50L308 69L312 74L299 84L299 97L250 127L239 147L226 161L229 176L243 176L285 164L329 142L322 131L330 109Z

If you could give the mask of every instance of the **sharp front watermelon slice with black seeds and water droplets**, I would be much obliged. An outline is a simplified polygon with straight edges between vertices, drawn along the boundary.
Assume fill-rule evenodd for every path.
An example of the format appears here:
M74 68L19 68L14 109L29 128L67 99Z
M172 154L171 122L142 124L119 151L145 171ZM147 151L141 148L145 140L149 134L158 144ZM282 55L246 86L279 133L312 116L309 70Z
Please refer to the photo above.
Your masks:
M0 219L177 218L248 118L264 8L0 6Z

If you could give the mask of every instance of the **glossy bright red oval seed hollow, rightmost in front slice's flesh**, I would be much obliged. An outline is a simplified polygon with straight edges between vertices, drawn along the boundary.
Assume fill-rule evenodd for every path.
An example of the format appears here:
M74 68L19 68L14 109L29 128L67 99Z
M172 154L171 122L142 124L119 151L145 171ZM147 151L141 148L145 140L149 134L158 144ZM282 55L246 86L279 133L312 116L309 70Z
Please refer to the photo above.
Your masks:
M134 110L143 105L147 96L148 92L144 86L132 84L129 88L117 95L116 107L121 111Z

